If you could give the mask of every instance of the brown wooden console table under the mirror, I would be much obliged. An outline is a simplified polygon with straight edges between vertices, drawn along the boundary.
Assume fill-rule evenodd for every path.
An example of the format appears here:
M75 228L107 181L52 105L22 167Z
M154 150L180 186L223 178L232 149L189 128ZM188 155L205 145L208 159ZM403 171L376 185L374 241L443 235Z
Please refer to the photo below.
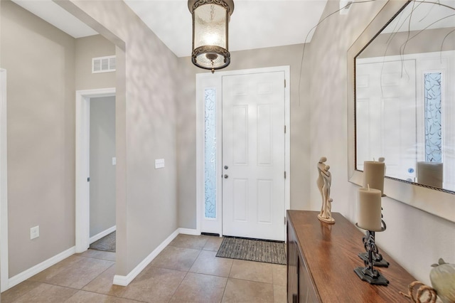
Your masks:
M287 300L294 302L410 302L407 293L414 277L380 248L388 268L375 267L389 285L370 285L355 274L364 267L364 233L340 213L335 224L318 220L316 211L287 211Z

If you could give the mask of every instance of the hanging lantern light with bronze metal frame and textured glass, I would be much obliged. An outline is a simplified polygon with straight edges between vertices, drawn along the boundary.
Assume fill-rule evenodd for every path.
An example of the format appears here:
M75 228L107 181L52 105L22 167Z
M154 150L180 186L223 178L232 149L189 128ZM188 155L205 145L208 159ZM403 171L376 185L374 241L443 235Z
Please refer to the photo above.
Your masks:
M234 11L233 0L188 0L193 15L191 61L199 68L215 70L230 63L228 25Z

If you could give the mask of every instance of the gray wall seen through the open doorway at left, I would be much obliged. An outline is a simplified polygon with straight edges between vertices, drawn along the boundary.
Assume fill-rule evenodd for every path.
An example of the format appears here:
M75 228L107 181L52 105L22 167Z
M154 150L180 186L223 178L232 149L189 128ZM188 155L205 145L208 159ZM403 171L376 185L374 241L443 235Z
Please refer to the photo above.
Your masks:
M115 97L90 99L90 237L115 225Z

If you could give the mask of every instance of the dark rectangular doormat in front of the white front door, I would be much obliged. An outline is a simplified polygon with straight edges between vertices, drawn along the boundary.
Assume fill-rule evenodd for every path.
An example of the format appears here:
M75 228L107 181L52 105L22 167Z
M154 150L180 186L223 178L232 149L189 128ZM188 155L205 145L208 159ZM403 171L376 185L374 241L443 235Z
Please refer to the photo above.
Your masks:
M217 257L286 265L284 243L243 238L224 238Z

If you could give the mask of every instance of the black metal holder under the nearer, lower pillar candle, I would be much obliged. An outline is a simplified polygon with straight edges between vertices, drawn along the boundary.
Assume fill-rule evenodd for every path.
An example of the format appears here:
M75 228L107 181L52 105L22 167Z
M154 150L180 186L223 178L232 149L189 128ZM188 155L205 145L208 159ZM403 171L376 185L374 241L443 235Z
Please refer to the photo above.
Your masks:
M381 230L377 231L384 231L385 230L385 222L381 220L382 228ZM357 223L355 224L357 225ZM357 225L358 226L358 225ZM358 226L361 228L360 226ZM375 232L372 230L367 230L365 236L363 237L363 245L365 247L367 259L364 260L365 267L356 267L354 272L360 277L361 280L366 281L372 285L385 285L389 284L389 280L387 280L378 270L375 270L375 264L373 260L373 255L380 258L379 261L382 260L382 255L378 252L378 246L375 243Z

